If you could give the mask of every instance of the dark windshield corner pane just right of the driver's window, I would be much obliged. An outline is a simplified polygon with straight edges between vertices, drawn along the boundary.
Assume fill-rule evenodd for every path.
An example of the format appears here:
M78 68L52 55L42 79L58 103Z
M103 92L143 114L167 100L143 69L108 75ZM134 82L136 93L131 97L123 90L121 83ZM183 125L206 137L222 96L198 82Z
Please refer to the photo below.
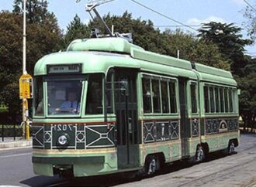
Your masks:
M86 97L86 114L102 114L102 74L92 74L88 77Z

